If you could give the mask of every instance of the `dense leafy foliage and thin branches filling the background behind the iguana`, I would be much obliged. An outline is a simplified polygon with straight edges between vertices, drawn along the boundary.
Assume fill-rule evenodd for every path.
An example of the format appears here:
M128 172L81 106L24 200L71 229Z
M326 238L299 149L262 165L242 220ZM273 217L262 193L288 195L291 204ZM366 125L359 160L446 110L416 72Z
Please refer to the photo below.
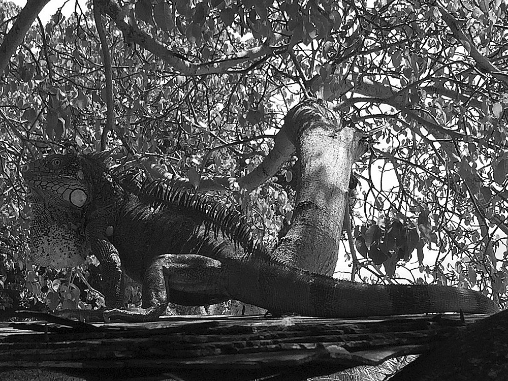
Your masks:
M0 41L19 13L1 4ZM118 2L114 20L115 3L94 4L106 47L91 3L56 12L34 23L0 77L0 280L26 269L27 295L52 306L48 293L60 288L26 262L20 168L31 157L103 140L121 168L146 159L193 183L239 178L285 112L317 96L373 134L354 168L356 245L344 240L356 280L459 284L505 301L504 2L138 0ZM294 164L251 193L223 193L272 244L291 217ZM19 276L9 284L19 288Z

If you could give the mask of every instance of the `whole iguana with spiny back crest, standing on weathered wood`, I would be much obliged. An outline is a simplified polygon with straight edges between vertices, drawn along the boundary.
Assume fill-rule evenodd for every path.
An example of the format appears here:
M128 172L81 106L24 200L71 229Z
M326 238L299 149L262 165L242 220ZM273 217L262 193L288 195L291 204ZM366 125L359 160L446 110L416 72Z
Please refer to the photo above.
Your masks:
M133 192L100 155L54 154L29 163L23 176L40 214L36 246L43 239L37 232L51 231L48 225L54 225L64 233L58 237L76 241L62 242L63 248L86 247L96 255L106 304L114 307L108 317L147 321L164 313L168 301L205 305L227 299L323 317L496 311L490 299L472 290L361 284L284 265L253 244L234 212L164 181ZM39 250L45 250L47 239ZM118 309L122 271L143 284L142 309Z

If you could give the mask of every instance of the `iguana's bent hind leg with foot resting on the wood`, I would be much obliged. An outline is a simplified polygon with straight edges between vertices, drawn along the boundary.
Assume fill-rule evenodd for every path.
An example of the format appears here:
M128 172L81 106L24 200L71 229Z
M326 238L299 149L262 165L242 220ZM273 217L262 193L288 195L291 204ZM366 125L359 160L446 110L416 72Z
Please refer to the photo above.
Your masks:
M130 322L156 320L168 302L208 305L228 299L220 262L193 254L165 254L154 258L143 279L142 308L110 309L106 320Z

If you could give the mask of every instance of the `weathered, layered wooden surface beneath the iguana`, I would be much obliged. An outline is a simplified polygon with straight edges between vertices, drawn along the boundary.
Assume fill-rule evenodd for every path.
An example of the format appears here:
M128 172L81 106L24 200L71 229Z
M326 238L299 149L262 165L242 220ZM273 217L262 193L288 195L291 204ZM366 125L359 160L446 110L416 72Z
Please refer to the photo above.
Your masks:
M61 369L346 368L418 354L483 315L313 317L183 316L152 323L0 326L0 367ZM28 331L31 328L34 331ZM310 369L309 368L309 369Z

